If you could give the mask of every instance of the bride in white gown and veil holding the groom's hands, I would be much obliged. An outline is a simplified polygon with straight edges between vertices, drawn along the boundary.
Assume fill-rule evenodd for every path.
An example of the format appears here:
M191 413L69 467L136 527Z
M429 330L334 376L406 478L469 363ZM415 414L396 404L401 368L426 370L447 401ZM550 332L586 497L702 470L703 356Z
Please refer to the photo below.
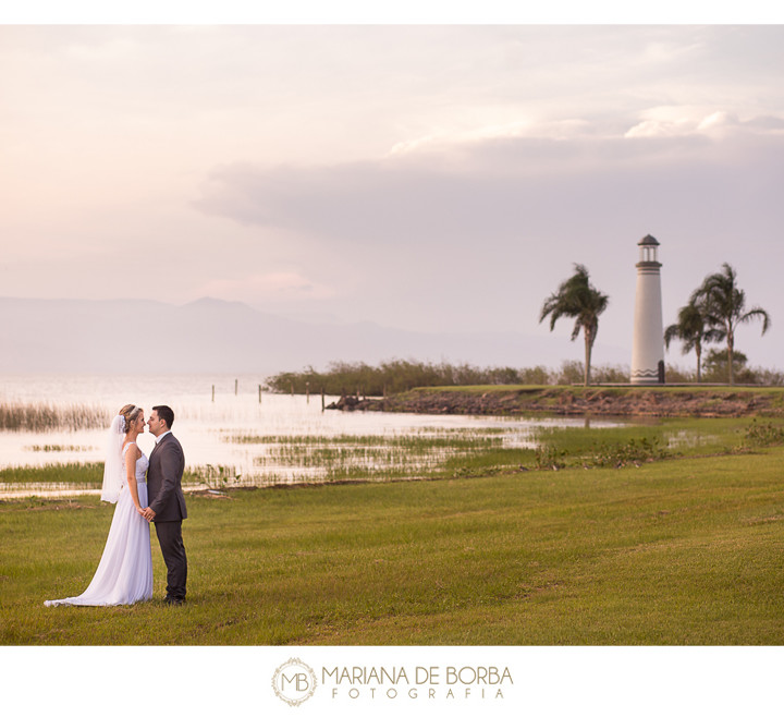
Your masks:
M76 597L46 600L44 605L130 605L152 597L152 556L145 474L147 457L136 446L144 432L144 411L123 406L109 428L109 451L103 469L101 500L117 502L98 569L87 590Z

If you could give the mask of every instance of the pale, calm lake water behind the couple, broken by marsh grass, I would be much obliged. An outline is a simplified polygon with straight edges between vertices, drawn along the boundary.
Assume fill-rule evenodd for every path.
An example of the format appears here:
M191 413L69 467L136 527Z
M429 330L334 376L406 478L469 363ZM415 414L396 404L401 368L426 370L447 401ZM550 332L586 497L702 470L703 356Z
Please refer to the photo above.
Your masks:
M143 361L150 355L148 352ZM416 461L434 463L449 452L434 446L413 457L388 445L404 436L444 441L455 437L492 439L503 447L532 447L531 430L536 427L585 424L583 418L322 411L320 394L309 401L304 396L259 397L264 380L264 376L253 375L0 376L0 403L83 406L93 414L105 414L101 426L108 426L126 403L142 405L146 417L152 405L167 403L174 410L173 433L183 445L186 469L209 476L206 484L213 486L220 484L219 471L230 476L231 485L269 485L319 479L335 460L343 467L376 465L383 470L402 461L408 466ZM326 402L329 405L333 400L335 397L327 397ZM611 425L617 422L591 421L593 427ZM357 445L352 437L357 438ZM379 440L368 441L367 437ZM0 430L0 469L102 462L105 442L105 427ZM139 436L138 442L147 454L155 445L149 434ZM54 484L24 489L0 485L0 493L7 497L25 490L26 495L65 495L65 490L87 489Z

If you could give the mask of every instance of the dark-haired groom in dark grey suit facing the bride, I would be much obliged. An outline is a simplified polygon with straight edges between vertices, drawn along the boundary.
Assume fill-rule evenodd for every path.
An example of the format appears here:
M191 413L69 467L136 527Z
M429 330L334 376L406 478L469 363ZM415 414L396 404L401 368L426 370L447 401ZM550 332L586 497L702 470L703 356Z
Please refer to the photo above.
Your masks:
M144 517L156 524L158 543L167 564L166 603L182 605L187 580L187 559L182 542L182 522L187 518L182 493L185 455L180 441L171 433L173 423L174 412L168 405L152 408L147 425L156 438L156 447L149 457L149 508L145 509Z

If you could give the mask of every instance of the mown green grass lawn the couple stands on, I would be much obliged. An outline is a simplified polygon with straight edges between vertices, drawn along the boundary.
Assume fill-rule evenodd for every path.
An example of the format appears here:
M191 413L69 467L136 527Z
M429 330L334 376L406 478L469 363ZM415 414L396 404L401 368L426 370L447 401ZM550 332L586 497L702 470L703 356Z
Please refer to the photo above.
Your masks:
M5 645L784 643L784 448L188 498L188 604L45 608L113 507L0 505Z

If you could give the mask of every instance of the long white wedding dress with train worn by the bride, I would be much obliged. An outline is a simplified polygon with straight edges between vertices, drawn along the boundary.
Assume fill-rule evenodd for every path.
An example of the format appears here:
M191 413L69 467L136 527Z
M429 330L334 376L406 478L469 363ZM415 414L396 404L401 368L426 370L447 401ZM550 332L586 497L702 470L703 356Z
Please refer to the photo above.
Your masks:
M135 443L128 443L125 451ZM149 467L147 457L136 461L136 487L139 505L147 508L147 483ZM44 605L130 605L152 597L152 554L150 551L149 523L136 511L131 490L123 481L118 498L109 537L103 548L98 570L87 590L76 597L46 600Z

